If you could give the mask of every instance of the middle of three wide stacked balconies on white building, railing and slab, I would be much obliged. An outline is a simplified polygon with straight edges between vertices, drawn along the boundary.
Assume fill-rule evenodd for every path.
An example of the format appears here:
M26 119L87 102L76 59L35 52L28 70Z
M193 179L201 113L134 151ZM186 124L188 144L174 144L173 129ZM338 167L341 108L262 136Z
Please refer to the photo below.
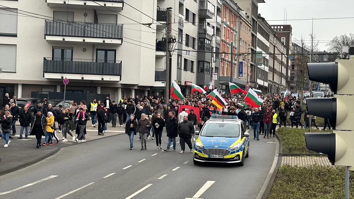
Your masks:
M46 20L44 36L50 43L120 46L123 43L123 25Z

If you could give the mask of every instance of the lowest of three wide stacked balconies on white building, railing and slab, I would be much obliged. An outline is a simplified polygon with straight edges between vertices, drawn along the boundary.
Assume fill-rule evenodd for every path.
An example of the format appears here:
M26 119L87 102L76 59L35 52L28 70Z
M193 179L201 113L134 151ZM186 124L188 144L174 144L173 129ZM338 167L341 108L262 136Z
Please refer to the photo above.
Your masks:
M120 81L122 61L44 57L44 78Z

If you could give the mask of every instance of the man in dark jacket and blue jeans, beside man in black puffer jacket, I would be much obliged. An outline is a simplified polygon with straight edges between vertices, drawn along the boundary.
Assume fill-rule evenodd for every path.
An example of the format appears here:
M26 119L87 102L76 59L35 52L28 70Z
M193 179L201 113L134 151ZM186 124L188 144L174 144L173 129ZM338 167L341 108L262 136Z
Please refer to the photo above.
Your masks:
M176 137L178 136L178 118L176 118L176 113L174 111L169 112L169 118L167 119L167 137L169 141L167 142L167 147L164 151L170 151L171 142L173 142L173 150L176 151Z

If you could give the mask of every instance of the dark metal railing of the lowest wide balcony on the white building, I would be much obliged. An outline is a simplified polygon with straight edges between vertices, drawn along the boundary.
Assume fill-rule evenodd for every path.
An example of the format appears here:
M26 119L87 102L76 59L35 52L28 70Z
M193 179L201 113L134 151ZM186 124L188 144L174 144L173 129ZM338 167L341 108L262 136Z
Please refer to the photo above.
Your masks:
M43 72L118 76L122 61L44 57Z

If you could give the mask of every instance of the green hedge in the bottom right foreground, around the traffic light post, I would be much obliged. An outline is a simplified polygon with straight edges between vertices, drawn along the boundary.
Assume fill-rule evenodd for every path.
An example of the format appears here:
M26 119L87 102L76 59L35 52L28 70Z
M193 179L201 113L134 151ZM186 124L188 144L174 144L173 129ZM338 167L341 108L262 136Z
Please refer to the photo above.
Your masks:
M350 175L349 198L354 198L354 175ZM268 199L344 198L344 167L283 165L275 177Z

